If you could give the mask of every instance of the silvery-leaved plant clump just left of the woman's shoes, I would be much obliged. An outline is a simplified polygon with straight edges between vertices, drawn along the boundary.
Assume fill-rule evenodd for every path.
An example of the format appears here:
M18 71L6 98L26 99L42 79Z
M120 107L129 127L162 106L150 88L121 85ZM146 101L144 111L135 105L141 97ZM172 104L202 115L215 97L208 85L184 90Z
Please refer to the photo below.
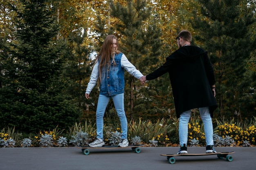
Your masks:
M88 133L80 130L79 132L76 131L69 143L74 146L88 146L90 140Z

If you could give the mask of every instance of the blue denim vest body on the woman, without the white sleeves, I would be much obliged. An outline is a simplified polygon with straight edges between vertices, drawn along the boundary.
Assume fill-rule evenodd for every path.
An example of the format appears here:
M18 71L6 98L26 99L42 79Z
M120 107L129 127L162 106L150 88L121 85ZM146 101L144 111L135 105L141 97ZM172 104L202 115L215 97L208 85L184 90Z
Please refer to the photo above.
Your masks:
M124 68L121 67L122 55L123 53L116 54L116 64L111 61L110 67L102 71L100 83L101 95L111 96L124 93Z

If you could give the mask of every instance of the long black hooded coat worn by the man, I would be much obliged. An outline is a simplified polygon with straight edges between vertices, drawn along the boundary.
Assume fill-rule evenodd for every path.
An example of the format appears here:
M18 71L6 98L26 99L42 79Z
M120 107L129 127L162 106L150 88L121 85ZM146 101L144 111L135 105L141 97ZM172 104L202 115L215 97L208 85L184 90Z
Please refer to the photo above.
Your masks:
M210 107L211 117L217 103L211 86L215 84L213 67L207 51L183 46L166 58L166 63L146 76L147 80L169 72L177 118L184 111Z

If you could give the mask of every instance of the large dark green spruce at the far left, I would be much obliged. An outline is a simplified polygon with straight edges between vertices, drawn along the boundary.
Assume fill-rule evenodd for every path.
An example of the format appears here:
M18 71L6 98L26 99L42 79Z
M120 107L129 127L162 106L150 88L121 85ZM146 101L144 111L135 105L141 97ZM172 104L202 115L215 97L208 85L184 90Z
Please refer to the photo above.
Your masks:
M17 42L11 44L7 61L9 78L1 88L0 128L16 126L25 132L68 128L80 110L63 93L62 46L54 41L58 26L47 0L20 0L13 21ZM43 128L43 129L42 129Z

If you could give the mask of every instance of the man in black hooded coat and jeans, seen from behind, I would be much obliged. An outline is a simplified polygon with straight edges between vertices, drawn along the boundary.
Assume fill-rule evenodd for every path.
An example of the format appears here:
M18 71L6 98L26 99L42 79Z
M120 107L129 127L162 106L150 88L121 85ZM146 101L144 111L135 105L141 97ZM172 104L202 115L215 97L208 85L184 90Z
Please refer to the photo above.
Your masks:
M189 31L182 30L177 35L176 40L179 49L167 57L166 63L156 71L141 77L141 84L168 72L176 115L179 118L181 147L177 154L188 153L188 123L193 108L199 108L200 117L204 124L206 153L215 153L211 117L213 117L213 111L217 108L217 103L212 64L206 51L191 46L192 35Z

